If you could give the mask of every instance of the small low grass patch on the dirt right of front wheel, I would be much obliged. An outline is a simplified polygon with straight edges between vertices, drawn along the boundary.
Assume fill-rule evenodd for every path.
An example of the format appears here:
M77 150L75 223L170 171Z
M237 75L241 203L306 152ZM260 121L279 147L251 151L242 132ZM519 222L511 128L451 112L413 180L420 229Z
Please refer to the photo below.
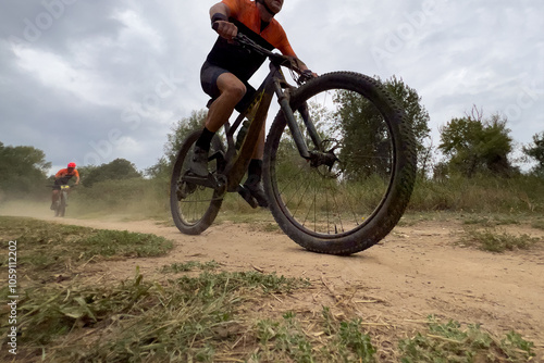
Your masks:
M539 241L539 238L529 235L514 236L506 231L495 229L466 229L466 236L458 241L463 247L475 247L483 251L505 252L514 250L528 250Z

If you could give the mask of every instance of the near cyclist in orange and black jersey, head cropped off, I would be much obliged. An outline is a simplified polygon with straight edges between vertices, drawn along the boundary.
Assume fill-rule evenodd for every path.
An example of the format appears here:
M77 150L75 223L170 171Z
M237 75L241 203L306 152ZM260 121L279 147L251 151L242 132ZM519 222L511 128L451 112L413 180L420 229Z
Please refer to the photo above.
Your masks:
M310 72L298 60L283 27L274 20L282 7L283 0L223 0L211 7L211 23L219 37L202 65L200 83L213 102L209 107L202 135L195 146L190 163L194 174L208 175L208 152L213 135L228 121L234 109L245 110L256 92L248 80L265 57L233 45L232 39L238 30L269 50L279 49L284 55L293 57L300 70ZM267 206L261 184L263 148L264 128L249 163L248 179L244 187L259 205Z

